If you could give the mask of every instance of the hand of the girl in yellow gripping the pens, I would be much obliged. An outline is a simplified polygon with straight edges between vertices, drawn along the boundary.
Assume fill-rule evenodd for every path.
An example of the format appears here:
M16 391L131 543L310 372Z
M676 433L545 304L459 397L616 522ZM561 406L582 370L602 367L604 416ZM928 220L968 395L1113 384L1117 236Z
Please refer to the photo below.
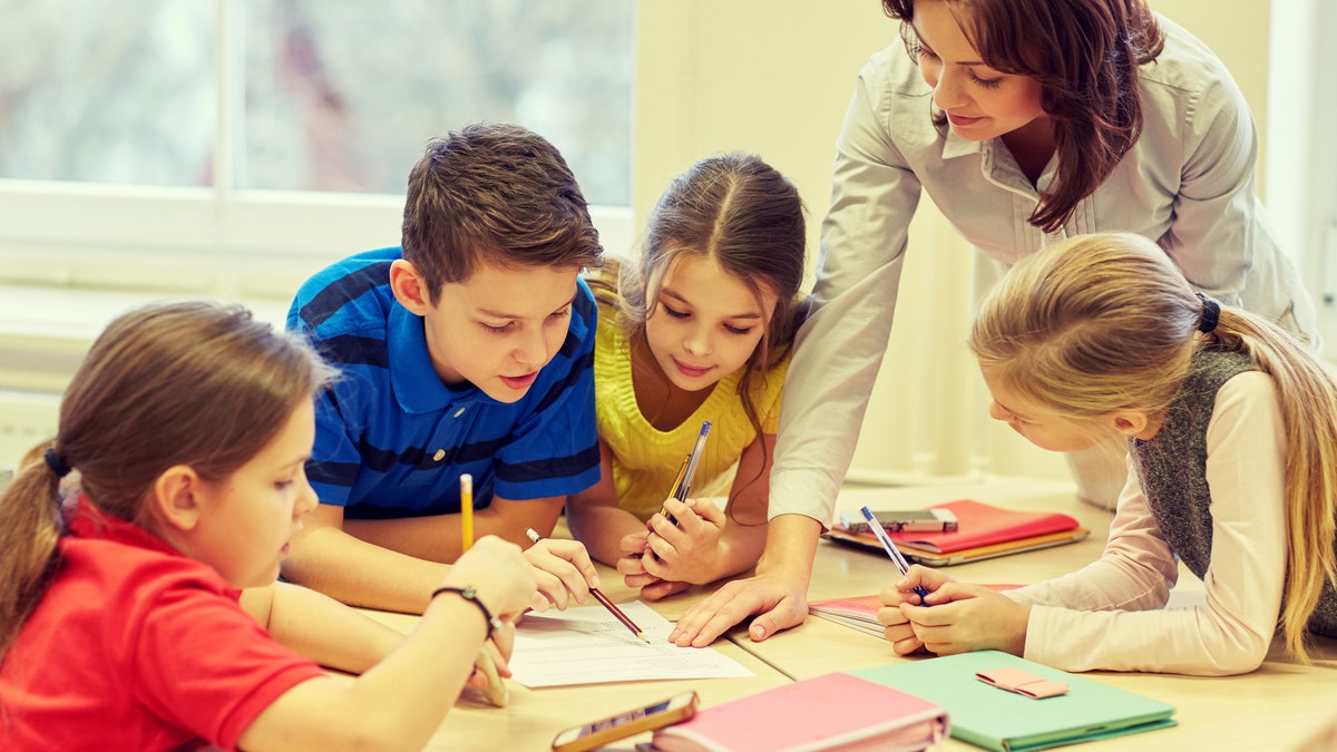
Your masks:
M667 516L656 514L646 523L651 530L640 557L646 571L659 579L693 585L718 579L723 510L710 499L687 499L686 503L667 499L664 512Z

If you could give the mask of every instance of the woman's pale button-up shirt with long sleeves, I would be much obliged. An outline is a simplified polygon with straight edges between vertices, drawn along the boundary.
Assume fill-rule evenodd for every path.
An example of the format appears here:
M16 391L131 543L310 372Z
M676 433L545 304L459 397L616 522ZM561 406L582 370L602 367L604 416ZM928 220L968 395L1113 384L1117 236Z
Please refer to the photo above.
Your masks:
M818 308L786 377L771 516L832 522L886 351L921 191L975 246L977 268L1005 269L1070 236L1138 233L1165 248L1197 289L1317 340L1313 304L1254 191L1258 139L1247 106L1206 45L1158 19L1167 39L1139 71L1142 136L1054 236L1027 218L1054 181L1056 157L1031 185L1000 139L939 130L932 90L901 44L864 67L837 143Z

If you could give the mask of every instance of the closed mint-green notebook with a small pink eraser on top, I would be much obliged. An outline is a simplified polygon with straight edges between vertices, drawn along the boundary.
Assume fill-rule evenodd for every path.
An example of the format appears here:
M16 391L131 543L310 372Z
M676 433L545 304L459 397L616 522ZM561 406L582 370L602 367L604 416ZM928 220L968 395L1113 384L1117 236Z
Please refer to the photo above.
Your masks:
M1000 668L1066 681L1068 693L1032 700L975 678L975 672ZM999 752L1047 749L1175 725L1171 705L997 650L848 673L947 708L952 736Z

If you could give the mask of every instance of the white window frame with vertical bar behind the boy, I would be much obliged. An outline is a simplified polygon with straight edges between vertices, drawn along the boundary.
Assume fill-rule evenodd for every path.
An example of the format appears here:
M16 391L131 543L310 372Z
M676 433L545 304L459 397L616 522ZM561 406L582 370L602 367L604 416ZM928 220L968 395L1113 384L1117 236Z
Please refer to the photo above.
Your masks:
M0 285L286 298L326 264L398 245L402 194L235 187L245 134L245 3L214 7L214 185L0 178ZM608 253L631 245L630 206L595 205L590 213Z

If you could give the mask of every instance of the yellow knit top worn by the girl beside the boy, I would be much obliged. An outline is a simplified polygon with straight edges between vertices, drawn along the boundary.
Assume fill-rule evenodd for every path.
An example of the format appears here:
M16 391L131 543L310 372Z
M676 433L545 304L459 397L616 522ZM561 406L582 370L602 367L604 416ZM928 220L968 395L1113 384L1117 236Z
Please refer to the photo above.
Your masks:
M779 426L779 395L785 385L789 357L770 372L754 379L753 403L762 431L774 434ZM757 431L738 396L742 369L721 379L706 401L671 431L659 431L646 420L636 404L631 381L631 348L615 306L599 306L599 329L594 351L595 412L599 438L612 450L612 480L618 504L640 519L650 519L668 496L670 486L686 456L697 444L701 423L709 420L691 496L729 494L743 450L757 440Z

